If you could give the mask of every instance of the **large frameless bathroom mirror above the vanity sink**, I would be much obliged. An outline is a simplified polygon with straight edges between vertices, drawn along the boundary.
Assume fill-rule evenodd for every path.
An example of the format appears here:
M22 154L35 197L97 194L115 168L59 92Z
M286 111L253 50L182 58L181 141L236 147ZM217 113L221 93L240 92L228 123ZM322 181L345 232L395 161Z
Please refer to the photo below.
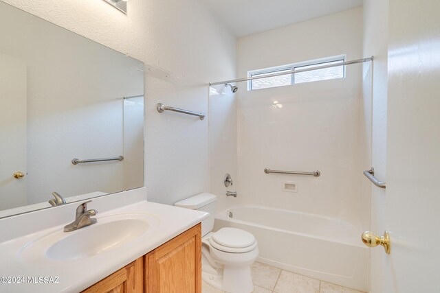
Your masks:
M144 186L143 63L1 1L0 39L0 218Z

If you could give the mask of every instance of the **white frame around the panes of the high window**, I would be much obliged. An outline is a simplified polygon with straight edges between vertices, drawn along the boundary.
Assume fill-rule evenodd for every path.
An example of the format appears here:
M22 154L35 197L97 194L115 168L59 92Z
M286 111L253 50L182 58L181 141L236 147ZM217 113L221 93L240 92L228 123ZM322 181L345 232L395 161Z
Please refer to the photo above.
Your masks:
M305 66L310 66L310 65L318 65L318 66L322 66L325 65L325 63L330 63L330 62L336 62L336 61L342 61L345 62L345 60L347 59L347 55L346 54L341 54L341 55L337 55L337 56L330 56L330 57L325 57L325 58L319 58L319 59L314 59L314 60L307 60L307 61L303 61L303 62L296 62L296 63L291 63L291 64L287 64L287 65L281 65L281 66L276 66L276 67L267 67L267 68L263 68L263 69L256 69L256 70L250 70L248 71L248 78L252 78L255 75L261 75L261 74L272 74L272 73L277 73L279 71L294 71L295 69L298 69L300 67L305 67ZM346 77L346 69L345 69L345 65L342 65L343 67L343 76L342 78ZM290 74L291 75L291 79L290 79L290 84L288 84L289 86L292 86L295 83L295 73L286 73L286 74ZM280 75L283 76L283 75ZM339 78L330 78L328 80L336 80ZM252 89L252 81L253 80L249 80L248 81L248 91L259 91L261 89ZM318 81L322 81L322 80L315 80L314 82L318 82ZM300 82L300 83L307 83L307 82ZM263 88L263 89L272 89L274 87L280 87L280 86L270 86L267 88Z

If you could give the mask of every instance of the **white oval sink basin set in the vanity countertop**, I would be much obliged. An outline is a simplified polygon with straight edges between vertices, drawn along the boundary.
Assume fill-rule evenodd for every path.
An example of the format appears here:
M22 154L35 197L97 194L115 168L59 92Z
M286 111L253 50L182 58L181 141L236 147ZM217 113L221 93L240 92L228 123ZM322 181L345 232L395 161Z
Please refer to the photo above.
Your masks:
M25 263L68 261L93 257L129 245L154 230L155 216L147 213L123 213L96 217L98 223L65 233L63 228L48 233L23 247L19 258Z

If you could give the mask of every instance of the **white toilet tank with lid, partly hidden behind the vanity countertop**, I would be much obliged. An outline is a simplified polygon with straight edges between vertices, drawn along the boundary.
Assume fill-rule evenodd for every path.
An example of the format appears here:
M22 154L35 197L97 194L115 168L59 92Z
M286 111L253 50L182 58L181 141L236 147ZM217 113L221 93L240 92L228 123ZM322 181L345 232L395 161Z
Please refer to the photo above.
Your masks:
M184 207L186 209L195 209L197 211L205 211L209 213L209 217L206 220L201 221L201 235L204 236L214 228L214 214L216 207L217 196L214 194L197 194L197 196L191 196L174 205L176 207Z

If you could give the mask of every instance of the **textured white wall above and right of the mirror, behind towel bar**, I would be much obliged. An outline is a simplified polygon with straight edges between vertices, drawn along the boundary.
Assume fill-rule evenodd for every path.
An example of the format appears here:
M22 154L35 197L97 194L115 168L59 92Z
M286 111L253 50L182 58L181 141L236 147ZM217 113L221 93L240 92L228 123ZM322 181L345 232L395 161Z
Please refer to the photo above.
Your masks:
M199 1L131 0L127 15L98 0L5 2L161 69L146 76L148 199L173 204L208 190L208 119L155 110L207 112L208 82L235 74L235 38Z

